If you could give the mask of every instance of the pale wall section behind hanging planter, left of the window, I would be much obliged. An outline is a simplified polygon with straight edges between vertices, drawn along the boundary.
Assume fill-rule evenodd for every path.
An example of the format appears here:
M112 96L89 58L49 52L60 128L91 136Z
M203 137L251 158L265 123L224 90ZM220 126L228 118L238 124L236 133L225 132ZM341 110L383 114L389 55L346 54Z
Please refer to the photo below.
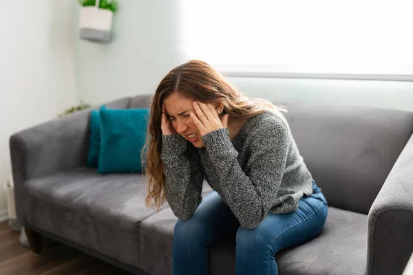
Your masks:
M78 94L92 104L153 92L178 60L178 0L118 0L111 43L78 38L80 7L72 1Z

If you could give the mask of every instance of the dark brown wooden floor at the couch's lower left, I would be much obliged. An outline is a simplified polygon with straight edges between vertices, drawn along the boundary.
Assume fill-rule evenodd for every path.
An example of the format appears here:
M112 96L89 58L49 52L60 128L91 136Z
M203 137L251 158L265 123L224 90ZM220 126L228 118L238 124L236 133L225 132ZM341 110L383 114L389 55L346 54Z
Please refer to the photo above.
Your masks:
M1 275L131 275L61 243L42 248L36 255L21 245L19 236L7 222L0 223Z

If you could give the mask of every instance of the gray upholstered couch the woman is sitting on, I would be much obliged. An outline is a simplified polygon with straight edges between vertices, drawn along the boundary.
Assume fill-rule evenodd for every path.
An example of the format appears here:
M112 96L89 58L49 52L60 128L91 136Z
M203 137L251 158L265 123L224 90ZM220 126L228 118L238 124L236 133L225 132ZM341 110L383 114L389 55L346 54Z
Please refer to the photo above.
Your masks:
M413 113L281 103L330 207L316 239L276 255L279 274L401 274L413 251ZM17 214L32 249L40 252L43 235L134 274L171 274L176 217L167 205L145 208L142 175L86 168L88 140L89 110L10 137ZM234 252L233 238L213 245L211 274L234 274Z

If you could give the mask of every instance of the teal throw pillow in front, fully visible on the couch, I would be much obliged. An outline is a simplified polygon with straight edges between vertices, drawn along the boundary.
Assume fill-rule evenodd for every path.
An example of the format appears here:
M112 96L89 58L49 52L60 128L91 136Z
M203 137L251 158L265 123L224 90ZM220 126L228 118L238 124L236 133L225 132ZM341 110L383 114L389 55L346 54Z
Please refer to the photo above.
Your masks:
M98 173L142 173L149 109L100 110Z

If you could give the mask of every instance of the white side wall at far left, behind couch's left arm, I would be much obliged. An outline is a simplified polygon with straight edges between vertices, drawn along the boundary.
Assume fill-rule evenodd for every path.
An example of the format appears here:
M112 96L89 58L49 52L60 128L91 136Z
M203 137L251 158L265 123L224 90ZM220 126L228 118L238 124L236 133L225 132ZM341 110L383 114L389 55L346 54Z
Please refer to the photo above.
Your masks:
M76 102L73 0L3 1L0 8L0 214L11 177L9 137Z

